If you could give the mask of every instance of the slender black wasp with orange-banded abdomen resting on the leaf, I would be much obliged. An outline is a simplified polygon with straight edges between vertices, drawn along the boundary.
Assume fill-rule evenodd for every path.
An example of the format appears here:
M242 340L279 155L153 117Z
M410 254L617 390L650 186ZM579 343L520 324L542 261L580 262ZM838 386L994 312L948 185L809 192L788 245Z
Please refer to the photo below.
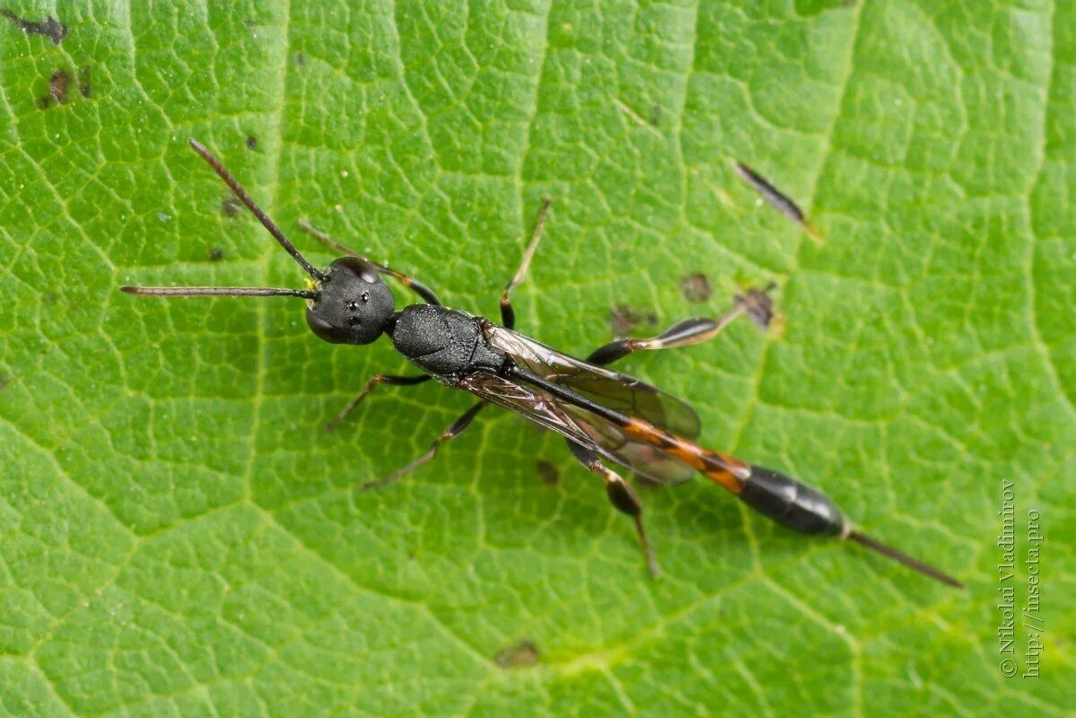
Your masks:
M741 298L734 309L717 320L689 319L651 339L610 342L580 361L513 330L515 314L509 293L526 274L541 238L549 200L542 205L519 270L500 295L498 326L487 319L443 307L437 295L421 282L370 262L305 225L344 254L324 271L315 268L209 150L195 140L190 140L190 146L313 278L311 288L119 287L123 292L155 296L301 297L307 300L307 324L325 341L368 344L382 334L388 335L396 351L423 374L377 375L330 424L343 419L379 384L411 385L436 379L478 397L479 402L453 422L425 454L388 477L364 484L365 488L395 481L430 461L438 448L467 428L479 411L489 404L497 404L567 439L576 459L605 481L613 506L634 519L642 551L655 576L659 569L642 527L642 505L631 485L607 462L660 483L680 483L695 471L702 473L783 526L803 534L851 539L949 586L963 588L957 579L852 529L836 505L817 489L773 469L700 447L695 442L698 417L690 406L638 379L604 368L636 350L685 347L710 339L737 314L751 311L751 297ZM396 311L395 297L381 274L398 280L426 304Z

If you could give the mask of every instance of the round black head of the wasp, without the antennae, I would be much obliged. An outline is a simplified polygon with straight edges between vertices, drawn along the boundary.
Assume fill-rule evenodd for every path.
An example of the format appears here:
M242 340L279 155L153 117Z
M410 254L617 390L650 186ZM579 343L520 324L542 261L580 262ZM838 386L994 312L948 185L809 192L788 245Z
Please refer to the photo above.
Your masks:
M373 265L358 257L340 257L318 283L317 298L307 309L307 324L325 341L368 344L385 330L395 309L393 292Z

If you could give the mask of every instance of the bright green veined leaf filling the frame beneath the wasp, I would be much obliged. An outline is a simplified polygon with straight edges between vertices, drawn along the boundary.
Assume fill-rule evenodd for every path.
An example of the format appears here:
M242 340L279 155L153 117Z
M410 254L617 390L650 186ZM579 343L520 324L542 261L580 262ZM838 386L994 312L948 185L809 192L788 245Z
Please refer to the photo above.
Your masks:
M0 712L1070 709L1071 3L58 4L5 8L58 15L59 44L0 18ZM640 488L650 580L599 482L505 412L358 490L469 399L385 386L326 433L406 371L387 343L320 342L295 299L118 294L301 285L188 137L316 264L300 217L491 316L552 196L513 298L572 353L614 308L646 336L777 282L783 328L623 366L696 406L707 445L968 589L704 480ZM690 301L698 272L713 293ZM1031 587L1045 648L1022 678Z

